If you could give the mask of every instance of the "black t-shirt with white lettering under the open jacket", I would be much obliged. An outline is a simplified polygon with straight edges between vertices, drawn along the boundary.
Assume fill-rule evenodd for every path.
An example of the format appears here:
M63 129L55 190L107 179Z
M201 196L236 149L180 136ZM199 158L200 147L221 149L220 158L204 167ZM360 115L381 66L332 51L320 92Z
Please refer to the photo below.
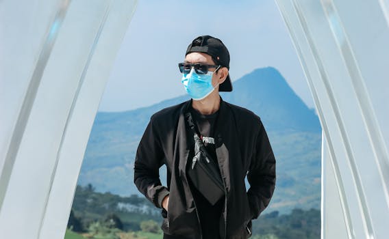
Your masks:
M207 148L208 154L210 154L217 164L213 133L218 111L216 111L216 113L212 113L211 115L202 115L199 111L190 107L190 113L192 114L194 124L197 126L197 133L199 134L200 139ZM189 160L191 161L192 158ZM191 163L188 163L188 165L190 164ZM221 222L224 221L222 214L224 208L224 197L221 197L221 199L212 206L212 204L203 197L197 188L192 185L190 185L190 188L193 193L194 201L196 202L197 212L201 223L201 231L203 232L203 239L220 238L219 228L223 226Z

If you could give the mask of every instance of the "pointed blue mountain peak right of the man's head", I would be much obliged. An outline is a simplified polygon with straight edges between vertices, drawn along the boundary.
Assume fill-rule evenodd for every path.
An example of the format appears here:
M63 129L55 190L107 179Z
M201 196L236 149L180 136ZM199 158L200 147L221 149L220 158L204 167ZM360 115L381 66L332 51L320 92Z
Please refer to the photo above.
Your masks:
M314 111L294 93L277 69L255 69L233 84L233 92L221 94L223 99L258 114L265 127L273 130L321 130Z

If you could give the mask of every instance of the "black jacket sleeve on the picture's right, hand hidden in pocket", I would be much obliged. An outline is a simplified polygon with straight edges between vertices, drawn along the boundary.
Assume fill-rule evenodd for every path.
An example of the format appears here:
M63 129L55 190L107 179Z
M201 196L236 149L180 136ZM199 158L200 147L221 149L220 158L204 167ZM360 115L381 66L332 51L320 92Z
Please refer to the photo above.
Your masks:
M262 122L255 140L255 151L251 158L247 180L247 191L252 218L257 219L268 206L275 189L275 156Z

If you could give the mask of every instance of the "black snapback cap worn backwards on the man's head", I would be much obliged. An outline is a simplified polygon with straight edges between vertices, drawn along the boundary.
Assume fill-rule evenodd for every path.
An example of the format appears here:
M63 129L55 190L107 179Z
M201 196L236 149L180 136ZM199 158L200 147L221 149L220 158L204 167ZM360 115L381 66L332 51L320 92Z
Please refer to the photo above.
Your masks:
M185 55L189 53L206 53L212 57L216 65L221 65L229 69L229 52L223 42L212 36L199 36L189 44ZM219 92L232 92L232 83L227 75L227 79L219 85Z

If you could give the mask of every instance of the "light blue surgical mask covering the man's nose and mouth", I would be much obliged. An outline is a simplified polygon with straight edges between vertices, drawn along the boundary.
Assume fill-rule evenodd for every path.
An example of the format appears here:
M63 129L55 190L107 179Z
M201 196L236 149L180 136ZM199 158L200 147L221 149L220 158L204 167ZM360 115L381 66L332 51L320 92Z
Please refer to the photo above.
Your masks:
M212 74L214 72L211 71L207 74L197 74L194 72L194 68L190 70L189 74L182 74L181 82L184 84L186 93L193 100L203 100L203 98L209 96L217 87L217 85L212 86Z

